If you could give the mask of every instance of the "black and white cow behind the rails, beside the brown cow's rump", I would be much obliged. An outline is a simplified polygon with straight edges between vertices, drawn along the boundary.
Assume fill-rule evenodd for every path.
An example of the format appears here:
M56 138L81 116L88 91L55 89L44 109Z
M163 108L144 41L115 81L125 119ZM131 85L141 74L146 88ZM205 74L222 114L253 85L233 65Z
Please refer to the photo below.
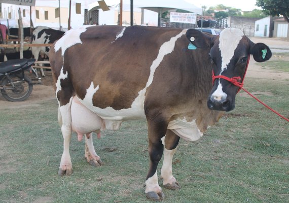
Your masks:
M32 31L31 44L53 44L56 40L60 39L64 34L64 31L52 29L46 26L35 27ZM39 60L39 55L49 57L50 47L32 47L32 55L35 59ZM41 69L41 75L44 77L43 69Z

